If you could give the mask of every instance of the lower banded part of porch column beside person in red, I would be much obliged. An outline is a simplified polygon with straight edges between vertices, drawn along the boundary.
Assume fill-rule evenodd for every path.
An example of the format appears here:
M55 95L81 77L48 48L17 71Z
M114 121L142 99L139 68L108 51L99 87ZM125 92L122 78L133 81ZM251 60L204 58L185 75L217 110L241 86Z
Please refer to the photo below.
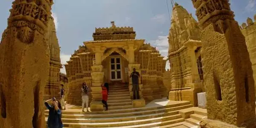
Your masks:
M102 72L102 65L93 65L92 66L92 102L90 103L91 111L102 111L102 88L104 72Z

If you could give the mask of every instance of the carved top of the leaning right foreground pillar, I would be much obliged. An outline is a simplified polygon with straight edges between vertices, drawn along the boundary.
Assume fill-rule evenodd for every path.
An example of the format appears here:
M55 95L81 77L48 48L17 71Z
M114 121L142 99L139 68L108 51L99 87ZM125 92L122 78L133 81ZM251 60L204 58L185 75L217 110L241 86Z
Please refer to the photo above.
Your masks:
M217 27L222 27L224 20L234 20L233 12L230 10L229 0L192 0L196 8L196 16L198 17L201 27L204 29L210 23L214 23ZM219 20L223 20L217 22ZM221 31L224 32L224 28Z

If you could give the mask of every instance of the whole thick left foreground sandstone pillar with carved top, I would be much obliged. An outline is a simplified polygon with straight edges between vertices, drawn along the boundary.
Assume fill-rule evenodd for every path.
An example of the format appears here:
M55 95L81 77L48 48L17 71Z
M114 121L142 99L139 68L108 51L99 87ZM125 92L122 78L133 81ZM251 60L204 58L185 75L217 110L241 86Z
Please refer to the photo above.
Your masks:
M0 128L45 128L52 0L15 0L0 43Z

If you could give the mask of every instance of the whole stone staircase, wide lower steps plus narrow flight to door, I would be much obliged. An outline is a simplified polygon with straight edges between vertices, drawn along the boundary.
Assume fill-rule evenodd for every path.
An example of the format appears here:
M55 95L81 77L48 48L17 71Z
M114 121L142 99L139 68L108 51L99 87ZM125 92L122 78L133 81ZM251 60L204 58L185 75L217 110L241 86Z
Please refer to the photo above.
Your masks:
M64 128L197 128L199 121L192 119L205 114L190 110L193 108L190 102L170 101L167 105L153 102L143 108L133 108L127 86L115 84L109 89L109 111L84 113L80 106L67 107L62 111ZM184 115L188 113L191 115L186 119ZM45 116L47 120L48 112Z

